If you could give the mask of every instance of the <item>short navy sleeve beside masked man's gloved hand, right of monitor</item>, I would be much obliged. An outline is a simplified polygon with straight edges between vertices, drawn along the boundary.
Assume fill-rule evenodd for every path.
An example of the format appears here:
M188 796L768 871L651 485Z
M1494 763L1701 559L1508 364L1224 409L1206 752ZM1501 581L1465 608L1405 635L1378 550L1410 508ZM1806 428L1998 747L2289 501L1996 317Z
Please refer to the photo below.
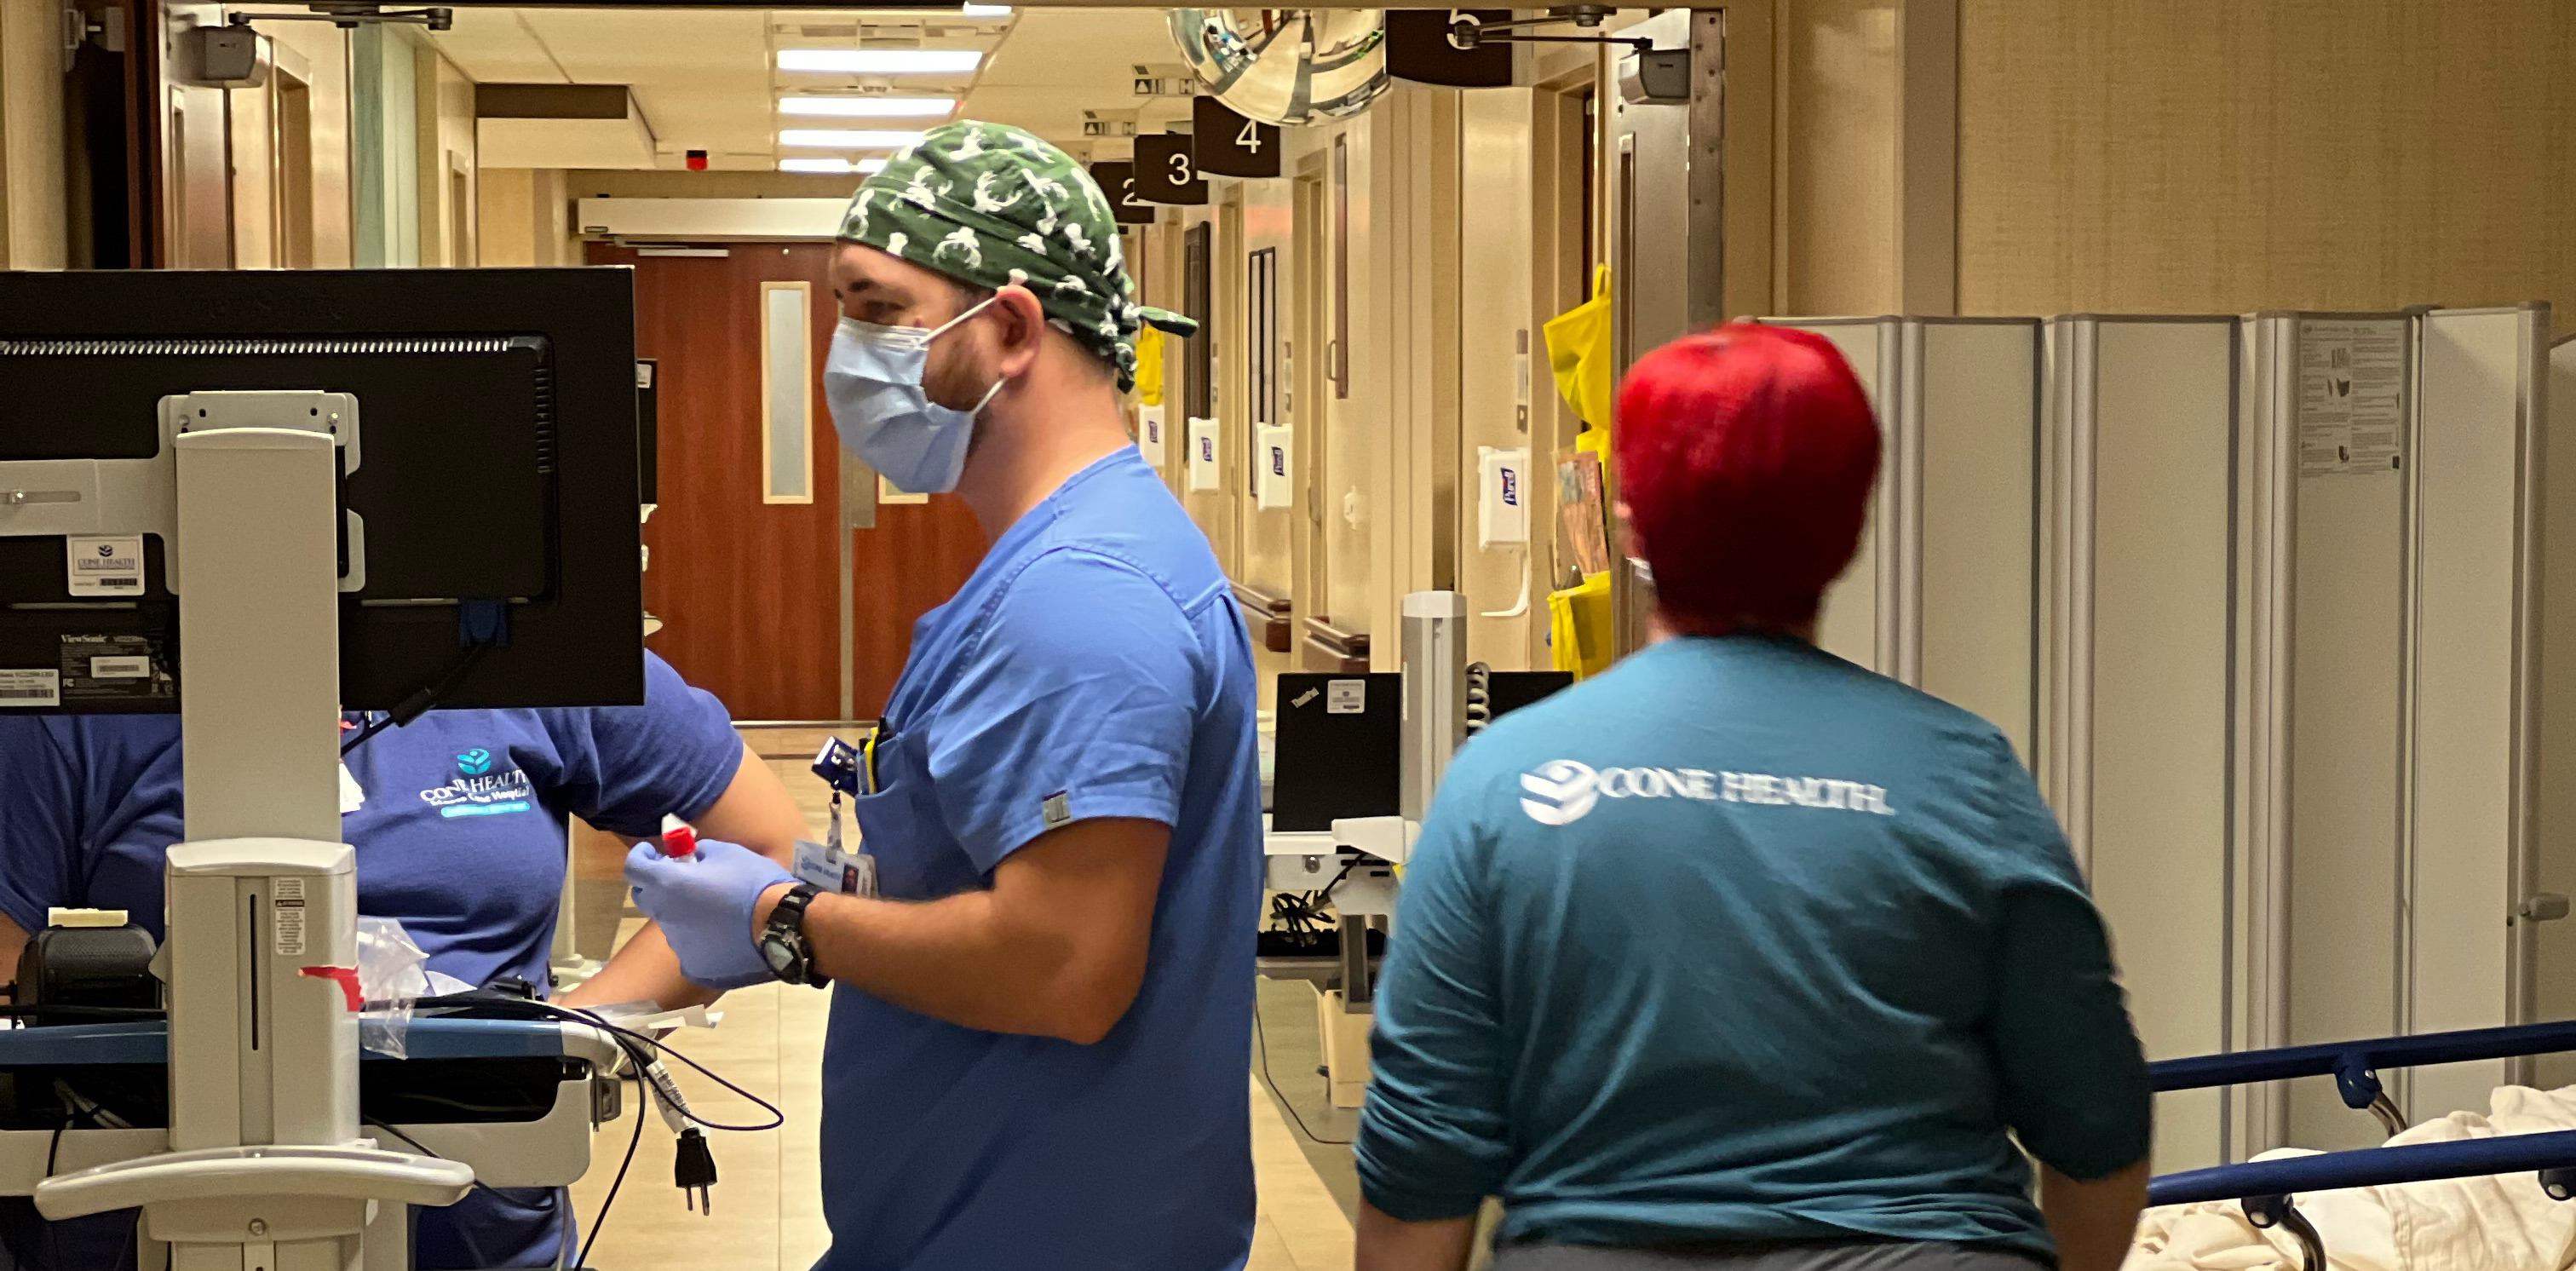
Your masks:
M649 652L641 706L546 712L546 732L562 750L562 802L626 838L662 833L670 815L706 815L742 771L742 735L724 704Z

